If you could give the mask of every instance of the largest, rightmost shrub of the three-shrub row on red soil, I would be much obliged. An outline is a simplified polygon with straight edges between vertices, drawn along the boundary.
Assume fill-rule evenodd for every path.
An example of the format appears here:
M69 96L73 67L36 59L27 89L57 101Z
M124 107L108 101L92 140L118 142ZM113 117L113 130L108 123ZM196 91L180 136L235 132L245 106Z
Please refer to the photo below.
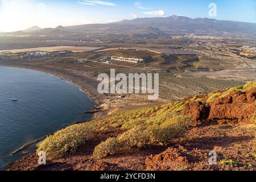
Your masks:
M172 138L182 137L191 123L192 119L186 115L177 115L161 125L151 126L151 137L156 142L166 143Z

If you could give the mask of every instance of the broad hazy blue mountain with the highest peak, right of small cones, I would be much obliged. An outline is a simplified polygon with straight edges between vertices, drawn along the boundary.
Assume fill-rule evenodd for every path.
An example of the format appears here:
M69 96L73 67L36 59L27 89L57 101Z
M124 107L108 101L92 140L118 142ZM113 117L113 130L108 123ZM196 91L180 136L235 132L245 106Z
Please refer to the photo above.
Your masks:
M89 30L105 32L138 33L148 27L158 28L166 33L197 33L197 34L250 34L256 35L255 23L243 23L208 18L188 18L185 16L169 16L167 18L137 18L122 20L108 24L85 24L66 27L71 31L84 32Z

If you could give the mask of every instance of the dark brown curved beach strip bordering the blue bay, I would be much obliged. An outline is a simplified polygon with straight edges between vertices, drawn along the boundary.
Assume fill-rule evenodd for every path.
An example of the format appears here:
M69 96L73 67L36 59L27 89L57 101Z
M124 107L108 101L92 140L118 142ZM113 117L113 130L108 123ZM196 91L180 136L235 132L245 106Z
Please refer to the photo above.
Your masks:
M61 79L67 80L72 84L78 86L83 92L85 92L90 99L97 105L104 104L105 95L99 94L97 91L98 81L96 78L92 78L86 75L85 72L75 71L72 69L56 68L48 65L40 64L4 64L2 67L15 67L31 69L34 71L40 71L57 76Z

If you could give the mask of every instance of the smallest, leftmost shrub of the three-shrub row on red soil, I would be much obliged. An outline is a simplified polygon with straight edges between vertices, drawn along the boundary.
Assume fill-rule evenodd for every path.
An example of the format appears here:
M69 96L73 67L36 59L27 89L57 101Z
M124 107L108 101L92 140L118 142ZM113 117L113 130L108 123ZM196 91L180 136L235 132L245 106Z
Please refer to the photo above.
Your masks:
M101 142L93 152L94 159L102 159L109 155L117 154L120 144L117 138L109 138L105 142Z

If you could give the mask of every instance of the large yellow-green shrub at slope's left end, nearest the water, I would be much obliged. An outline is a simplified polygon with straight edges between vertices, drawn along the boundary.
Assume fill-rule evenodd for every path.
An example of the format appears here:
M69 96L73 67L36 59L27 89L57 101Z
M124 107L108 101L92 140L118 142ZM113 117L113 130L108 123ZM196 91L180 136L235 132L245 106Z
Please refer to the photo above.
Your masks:
M47 159L60 158L68 152L76 151L77 147L90 138L92 138L90 127L85 124L72 125L40 142L36 152L46 152Z

